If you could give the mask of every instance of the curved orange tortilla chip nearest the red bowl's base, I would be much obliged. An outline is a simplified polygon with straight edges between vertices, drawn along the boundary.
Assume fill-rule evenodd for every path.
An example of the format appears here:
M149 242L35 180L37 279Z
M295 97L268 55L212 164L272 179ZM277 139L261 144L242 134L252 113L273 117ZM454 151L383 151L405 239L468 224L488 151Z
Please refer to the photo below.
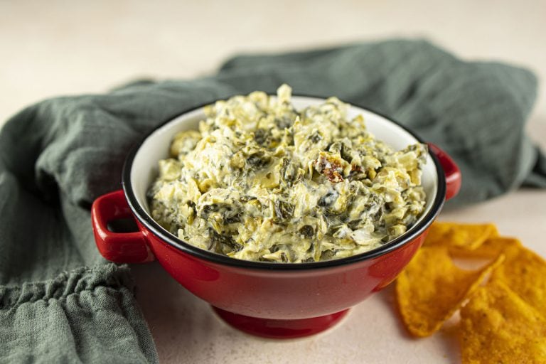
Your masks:
M445 245L422 247L396 281L400 314L414 336L429 336L459 309L503 255L478 270L456 267Z

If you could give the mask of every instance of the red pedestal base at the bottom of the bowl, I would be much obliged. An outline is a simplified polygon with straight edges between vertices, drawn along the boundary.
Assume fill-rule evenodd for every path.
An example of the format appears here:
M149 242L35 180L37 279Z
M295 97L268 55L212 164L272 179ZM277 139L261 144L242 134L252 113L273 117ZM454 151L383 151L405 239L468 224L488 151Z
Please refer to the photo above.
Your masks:
M218 309L218 307L212 307L216 314L220 316L220 319L223 319L230 326L251 335L262 336L263 338L301 338L311 336L336 325L349 311L346 309L326 316L311 317L310 319L275 320L233 314L232 312Z

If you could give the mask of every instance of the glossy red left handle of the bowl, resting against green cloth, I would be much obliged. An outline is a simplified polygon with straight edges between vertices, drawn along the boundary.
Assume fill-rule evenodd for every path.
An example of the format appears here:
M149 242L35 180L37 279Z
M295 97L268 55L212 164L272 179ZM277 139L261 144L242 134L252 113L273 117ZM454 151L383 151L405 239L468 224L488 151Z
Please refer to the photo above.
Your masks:
M107 193L97 198L91 207L91 221L95 242L100 254L116 263L151 262L154 255L142 231L112 232L108 223L134 218L123 190Z

